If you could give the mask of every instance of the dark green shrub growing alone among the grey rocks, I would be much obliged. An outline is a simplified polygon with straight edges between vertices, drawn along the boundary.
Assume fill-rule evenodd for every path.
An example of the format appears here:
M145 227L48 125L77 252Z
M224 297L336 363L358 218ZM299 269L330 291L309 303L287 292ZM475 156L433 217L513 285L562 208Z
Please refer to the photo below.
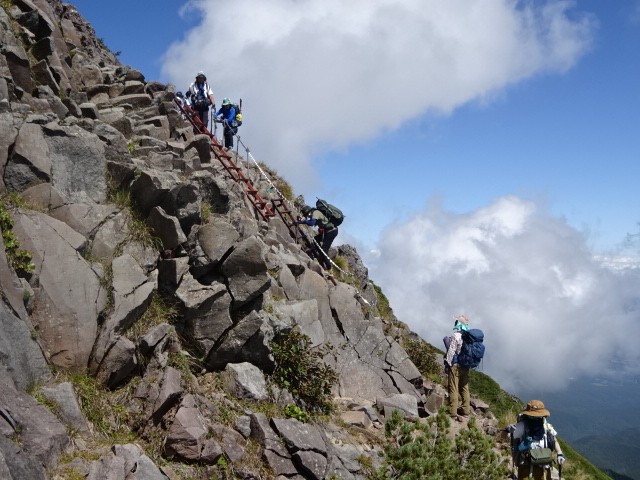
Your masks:
M294 328L277 335L271 342L275 368L271 380L286 388L310 411L333 411L331 390L338 383L338 374L322 358L330 347L314 349L311 339Z

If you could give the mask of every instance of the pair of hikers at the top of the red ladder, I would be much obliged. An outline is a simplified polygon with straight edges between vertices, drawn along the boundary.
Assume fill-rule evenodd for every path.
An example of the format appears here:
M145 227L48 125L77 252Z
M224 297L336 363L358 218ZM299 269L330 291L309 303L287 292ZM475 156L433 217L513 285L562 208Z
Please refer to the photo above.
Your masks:
M240 105L233 103L229 98L225 98L222 100L220 110L216 111L213 89L207 83L207 76L203 71L199 71L196 74L196 78L189 86L186 95L182 92L176 92L176 99L181 106L189 106L205 128L209 127L209 109L211 108L214 121L222 123L224 127L224 148L226 150L233 149L233 137L238 133L238 127L242 125Z

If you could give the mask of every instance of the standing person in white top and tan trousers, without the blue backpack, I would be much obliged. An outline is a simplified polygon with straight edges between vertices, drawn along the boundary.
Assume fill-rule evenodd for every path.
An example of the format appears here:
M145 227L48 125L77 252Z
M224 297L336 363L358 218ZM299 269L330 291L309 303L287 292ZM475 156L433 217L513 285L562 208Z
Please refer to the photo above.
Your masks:
M458 361L462 351L462 334L469 330L469 318L466 315L458 315L454 318L453 334L449 337L449 348L444 357L447 376L447 391L449 393L449 415L464 421L464 417L471 414L471 400L469 397L469 367L463 367ZM462 401L461 413L458 415L458 402Z

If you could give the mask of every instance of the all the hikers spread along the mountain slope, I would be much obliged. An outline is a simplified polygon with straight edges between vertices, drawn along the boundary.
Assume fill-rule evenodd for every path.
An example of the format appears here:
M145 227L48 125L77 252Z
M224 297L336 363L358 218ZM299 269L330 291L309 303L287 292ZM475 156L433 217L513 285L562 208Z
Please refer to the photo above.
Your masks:
M225 98L220 110L216 111L213 90L207 83L204 72L196 74L186 96L177 92L176 98L181 105L188 105L197 114L205 128L209 124L209 108L213 107L214 121L224 125L224 147L227 150L233 148L233 137L242 124L240 107ZM338 236L338 226L344 219L342 211L322 199L318 199L315 207L311 207L299 197L296 206L302 215L296 219L295 224L318 229L314 244L307 250L307 254L330 271L332 262L329 249ZM471 415L469 372L479 365L484 356L483 340L483 332L470 328L466 315L454 317L453 332L443 339L446 349L444 370L448 412L452 419L460 423ZM517 467L518 479L551 480L554 453L558 468L562 470L565 457L560 443L556 441L557 433L547 421L549 415L543 402L531 400L518 415L518 422L507 427L511 438L512 465L514 469Z

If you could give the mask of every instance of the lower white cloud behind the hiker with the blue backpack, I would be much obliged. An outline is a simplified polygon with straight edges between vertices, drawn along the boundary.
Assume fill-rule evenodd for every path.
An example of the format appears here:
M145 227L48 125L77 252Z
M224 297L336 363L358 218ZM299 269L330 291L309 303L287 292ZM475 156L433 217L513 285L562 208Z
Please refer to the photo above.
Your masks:
M484 371L528 391L637 365L640 268L611 270L562 219L517 197L466 215L430 206L387 228L371 276L399 319L435 345L466 313L486 335Z

